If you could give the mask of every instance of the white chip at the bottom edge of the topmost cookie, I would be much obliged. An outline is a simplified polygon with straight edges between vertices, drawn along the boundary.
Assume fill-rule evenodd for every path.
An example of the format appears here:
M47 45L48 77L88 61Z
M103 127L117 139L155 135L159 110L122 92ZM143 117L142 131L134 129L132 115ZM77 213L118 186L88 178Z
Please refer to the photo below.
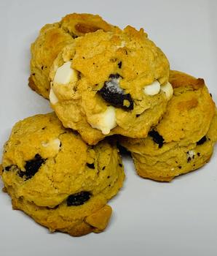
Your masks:
M92 128L100 129L103 132L103 135L108 135L111 129L117 127L115 108L108 107L104 113L95 115L98 118L96 124L91 124Z

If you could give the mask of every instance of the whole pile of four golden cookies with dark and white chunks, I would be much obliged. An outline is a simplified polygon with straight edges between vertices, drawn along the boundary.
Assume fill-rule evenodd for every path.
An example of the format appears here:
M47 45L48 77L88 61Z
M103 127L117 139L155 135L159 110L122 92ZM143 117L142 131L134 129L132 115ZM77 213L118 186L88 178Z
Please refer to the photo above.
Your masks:
M125 178L117 140L157 181L209 161L217 114L204 80L170 70L143 29L74 13L44 26L31 56L29 86L55 112L15 124L1 178L13 208L50 231L106 228Z

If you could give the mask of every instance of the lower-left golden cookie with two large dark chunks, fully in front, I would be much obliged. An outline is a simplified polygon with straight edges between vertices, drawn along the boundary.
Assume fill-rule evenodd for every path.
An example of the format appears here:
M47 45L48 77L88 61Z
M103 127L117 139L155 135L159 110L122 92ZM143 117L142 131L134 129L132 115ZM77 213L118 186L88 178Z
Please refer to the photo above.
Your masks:
M55 113L15 124L4 145L2 168L14 209L71 236L106 228L111 216L106 203L125 178L114 138L88 146Z

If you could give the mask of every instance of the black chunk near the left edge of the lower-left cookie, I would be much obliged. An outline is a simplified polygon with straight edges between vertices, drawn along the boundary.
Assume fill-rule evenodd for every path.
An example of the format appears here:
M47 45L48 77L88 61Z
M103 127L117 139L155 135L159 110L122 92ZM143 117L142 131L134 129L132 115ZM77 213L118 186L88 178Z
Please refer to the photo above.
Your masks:
M25 176L25 180L27 180L28 178L32 178L37 173L37 171L39 170L39 168L42 166L43 163L44 163L44 159L42 159L42 157L39 154L36 154L35 159L32 159L31 161L26 162L25 172L23 172L23 170L19 170L17 173L21 178Z

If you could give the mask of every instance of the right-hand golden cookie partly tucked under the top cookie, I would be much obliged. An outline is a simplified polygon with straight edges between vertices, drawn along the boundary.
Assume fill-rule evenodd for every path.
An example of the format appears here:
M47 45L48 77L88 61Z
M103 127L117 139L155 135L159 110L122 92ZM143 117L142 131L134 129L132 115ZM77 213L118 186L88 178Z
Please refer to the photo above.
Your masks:
M170 83L174 95L148 137L119 138L131 152L137 173L157 181L171 181L205 165L217 140L216 107L204 80L171 71Z

